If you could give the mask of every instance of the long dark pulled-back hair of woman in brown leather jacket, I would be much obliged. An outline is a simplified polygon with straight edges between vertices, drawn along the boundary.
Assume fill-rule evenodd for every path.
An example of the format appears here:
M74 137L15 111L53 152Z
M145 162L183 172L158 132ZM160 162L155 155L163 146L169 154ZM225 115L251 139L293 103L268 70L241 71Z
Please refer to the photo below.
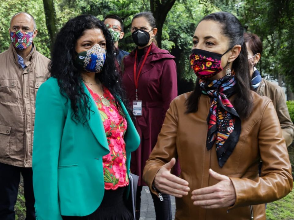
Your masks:
M218 22L222 27L222 34L229 39L229 48L235 45L241 45L239 56L233 61L232 69L236 72L236 97L234 108L241 119L246 119L253 108L253 98L251 96L251 78L248 67L247 49L244 42L244 29L236 16L228 12L217 12L206 15L203 20L212 20ZM201 22L200 21L200 22ZM199 23L200 23L199 22ZM198 24L199 24L198 23ZM201 96L199 79L196 81L195 90L188 97L186 113L198 111L198 100Z

